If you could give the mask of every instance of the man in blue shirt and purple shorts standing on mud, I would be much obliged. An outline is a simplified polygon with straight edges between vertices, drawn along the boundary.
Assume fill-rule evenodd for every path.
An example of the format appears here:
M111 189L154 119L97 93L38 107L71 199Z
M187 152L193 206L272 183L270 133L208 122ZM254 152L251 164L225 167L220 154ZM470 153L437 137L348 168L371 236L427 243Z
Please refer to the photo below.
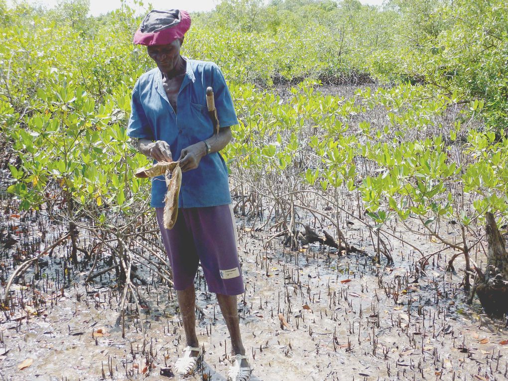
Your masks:
M147 46L157 68L144 73L132 93L132 113L127 134L140 152L154 161L178 157L182 184L179 213L172 230L163 225L164 178L152 180L151 206L156 208L185 330L183 354L175 372L192 374L202 351L196 336L194 278L199 262L210 292L217 295L231 335L233 367L228 379L246 381L251 369L246 361L237 312L236 295L244 291L238 262L231 209L228 169L219 151L231 140L230 126L238 124L224 76L212 62L182 57L180 47L190 27L187 12L153 10L134 37ZM212 86L220 130L214 134L206 106L206 88Z

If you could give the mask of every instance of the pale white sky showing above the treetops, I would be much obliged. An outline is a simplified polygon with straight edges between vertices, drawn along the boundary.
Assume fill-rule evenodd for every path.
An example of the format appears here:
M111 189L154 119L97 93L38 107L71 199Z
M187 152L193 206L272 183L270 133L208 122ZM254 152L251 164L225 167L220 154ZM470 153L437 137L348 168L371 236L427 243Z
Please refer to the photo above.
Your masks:
M11 3L15 0L11 0ZM58 0L28 0L28 3L42 4L48 8L52 8L57 4ZM360 0L362 4L381 5L383 0ZM128 0L132 4L131 0ZM185 9L189 12L210 11L220 3L220 0L145 0L145 4L151 3L154 8L175 8ZM99 16L120 7L120 0L90 0L90 14Z

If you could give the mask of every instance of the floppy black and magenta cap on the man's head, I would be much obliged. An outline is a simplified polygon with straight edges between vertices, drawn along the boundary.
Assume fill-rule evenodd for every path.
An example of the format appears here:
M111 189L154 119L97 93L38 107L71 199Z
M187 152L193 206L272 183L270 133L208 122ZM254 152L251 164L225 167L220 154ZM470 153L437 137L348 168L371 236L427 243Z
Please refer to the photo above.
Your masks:
M190 28L190 16L185 11L169 9L152 10L143 19L134 35L134 44L166 45L180 39Z

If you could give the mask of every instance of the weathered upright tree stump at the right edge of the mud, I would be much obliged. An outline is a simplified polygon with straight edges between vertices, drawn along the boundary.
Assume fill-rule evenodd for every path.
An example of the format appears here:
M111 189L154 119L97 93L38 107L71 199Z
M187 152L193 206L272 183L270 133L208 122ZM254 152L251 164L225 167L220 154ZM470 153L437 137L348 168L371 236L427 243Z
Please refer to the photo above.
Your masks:
M487 269L483 272L474 266L477 277L468 302L472 303L476 292L486 313L502 316L508 313L508 254L504 238L497 229L494 215L490 212L486 213L486 235Z

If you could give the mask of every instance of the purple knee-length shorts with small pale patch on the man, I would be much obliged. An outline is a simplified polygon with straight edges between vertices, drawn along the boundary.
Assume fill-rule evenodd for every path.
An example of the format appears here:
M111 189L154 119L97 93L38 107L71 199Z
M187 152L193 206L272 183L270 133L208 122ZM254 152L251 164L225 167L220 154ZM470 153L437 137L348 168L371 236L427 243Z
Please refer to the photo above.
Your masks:
M176 290L194 284L201 261L208 290L216 294L244 292L238 262L236 227L231 205L178 210L176 224L164 229L164 208L155 208Z

